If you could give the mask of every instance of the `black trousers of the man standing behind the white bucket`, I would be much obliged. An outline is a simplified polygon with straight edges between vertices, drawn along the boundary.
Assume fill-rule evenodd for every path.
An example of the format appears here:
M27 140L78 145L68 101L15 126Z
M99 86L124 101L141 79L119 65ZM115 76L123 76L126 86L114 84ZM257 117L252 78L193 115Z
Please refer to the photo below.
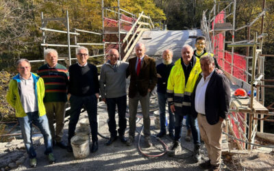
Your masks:
M71 102L71 118L69 119L69 137L68 142L71 145L71 137L74 136L75 127L79 120L83 105L88 112L88 120L90 122L92 142L98 141L98 122L97 122L97 97L95 94L90 96L74 96L71 94L69 99Z

